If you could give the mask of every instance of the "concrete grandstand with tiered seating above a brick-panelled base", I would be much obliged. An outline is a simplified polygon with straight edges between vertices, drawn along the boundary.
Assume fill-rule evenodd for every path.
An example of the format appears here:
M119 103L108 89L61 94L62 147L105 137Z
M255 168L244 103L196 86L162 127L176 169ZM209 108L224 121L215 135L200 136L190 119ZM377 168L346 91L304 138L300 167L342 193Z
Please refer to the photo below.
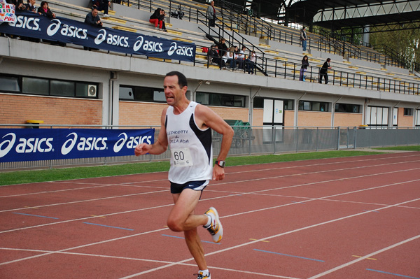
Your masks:
M41 16L17 13L14 23L0 24L0 124L8 128L159 126L160 113L167 106L163 78L169 71L180 71L188 78L188 99L210 106L232 125L420 127L419 69L373 48L311 32L314 24L322 22L322 16L316 17L320 11L326 17L325 8L346 1L293 1L290 7L233 2L216 1L215 27L207 20L208 3L111 3L109 17L99 12L103 27L96 30L96 37L90 37L91 29L83 23L91 12L88 0L48 1L57 15L48 19L50 25L43 25ZM301 15L305 5L311 13ZM149 22L156 8L167 12L167 32ZM290 11L283 14L285 8ZM420 18L419 13L417 7L407 14ZM310 19L303 16L309 14ZM395 20L380 16L381 22ZM351 24L366 26L369 22L363 18L353 17ZM300 30L277 24L281 20L310 27L306 51L302 51ZM328 18L325 26L331 22ZM345 24L344 19L339 24ZM49 40L43 37L54 30L57 34ZM97 48L85 50L101 36ZM255 51L255 75L209 61L207 50L220 38L228 46L244 46L246 56ZM178 56L159 50L168 42L168 53L172 48ZM133 50L139 44L151 51ZM306 79L300 81L304 55L309 57L309 67ZM332 68L329 82L320 84L319 71L327 58Z

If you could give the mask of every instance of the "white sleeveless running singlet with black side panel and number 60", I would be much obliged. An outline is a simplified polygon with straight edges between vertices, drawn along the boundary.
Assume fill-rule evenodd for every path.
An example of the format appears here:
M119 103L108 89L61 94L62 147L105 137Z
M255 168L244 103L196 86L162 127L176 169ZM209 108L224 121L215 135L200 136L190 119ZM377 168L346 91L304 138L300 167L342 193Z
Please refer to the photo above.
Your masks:
M213 148L211 129L200 129L195 123L195 107L191 101L181 114L174 114L169 106L165 127L171 151L171 168L168 179L183 184L193 180L211 180L213 176Z

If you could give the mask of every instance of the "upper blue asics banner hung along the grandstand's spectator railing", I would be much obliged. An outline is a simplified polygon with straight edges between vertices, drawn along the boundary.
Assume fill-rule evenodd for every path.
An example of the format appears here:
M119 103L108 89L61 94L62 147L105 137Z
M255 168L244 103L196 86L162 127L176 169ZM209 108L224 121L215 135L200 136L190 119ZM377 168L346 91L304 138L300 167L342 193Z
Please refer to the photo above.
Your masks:
M0 22L0 33L73 43L132 55L194 62L195 44L171 41L107 27L94 27L65 17L50 19L38 13L16 12L14 22Z

